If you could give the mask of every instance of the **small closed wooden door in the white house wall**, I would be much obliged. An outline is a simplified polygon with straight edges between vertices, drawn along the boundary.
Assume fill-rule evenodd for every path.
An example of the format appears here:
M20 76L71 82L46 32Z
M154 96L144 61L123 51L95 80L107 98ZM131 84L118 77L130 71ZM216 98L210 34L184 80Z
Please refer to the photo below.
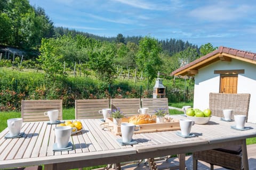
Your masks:
M220 93L237 93L238 75L220 75Z

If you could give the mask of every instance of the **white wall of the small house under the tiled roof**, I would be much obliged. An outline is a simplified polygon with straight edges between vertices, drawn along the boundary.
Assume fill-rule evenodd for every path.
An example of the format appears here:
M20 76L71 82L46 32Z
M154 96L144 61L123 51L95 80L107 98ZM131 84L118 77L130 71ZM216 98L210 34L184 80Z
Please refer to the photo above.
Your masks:
M219 93L220 75L214 74L214 70L238 70L244 69L244 74L238 74L237 93L250 93L250 107L248 122L256 123L256 66L232 59L217 61L198 70L195 76L194 108L201 110L209 108L209 93Z

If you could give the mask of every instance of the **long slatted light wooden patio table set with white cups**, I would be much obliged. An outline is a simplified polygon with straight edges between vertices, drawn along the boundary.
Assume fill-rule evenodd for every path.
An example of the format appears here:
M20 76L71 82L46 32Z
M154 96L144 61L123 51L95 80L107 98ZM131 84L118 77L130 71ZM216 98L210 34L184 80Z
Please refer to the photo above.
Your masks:
M183 116L172 116L183 119ZM196 137L183 138L177 131L152 132L134 134L134 145L122 146L109 131L104 131L99 119L80 120L83 130L71 136L74 149L71 151L53 152L55 142L53 128L47 122L23 123L23 137L4 139L9 132L4 129L0 133L0 169L45 165L45 169L71 169L95 165L121 163L130 160L152 158L181 153L182 158L188 152L224 147L230 144L244 144L246 138L256 136L256 125L246 123L252 129L237 131L231 129L234 122L223 122L218 117L212 117L206 125L194 125L191 133ZM248 168L246 145L243 145L244 166ZM185 169L185 159L180 160L180 169Z

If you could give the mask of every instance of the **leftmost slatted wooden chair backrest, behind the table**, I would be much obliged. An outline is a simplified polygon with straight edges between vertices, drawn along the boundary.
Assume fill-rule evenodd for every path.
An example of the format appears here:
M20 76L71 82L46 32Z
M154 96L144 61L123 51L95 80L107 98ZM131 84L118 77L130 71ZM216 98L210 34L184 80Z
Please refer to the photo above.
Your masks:
M62 120L62 100L22 100L21 118L23 122L47 121L44 112L59 110L58 120Z

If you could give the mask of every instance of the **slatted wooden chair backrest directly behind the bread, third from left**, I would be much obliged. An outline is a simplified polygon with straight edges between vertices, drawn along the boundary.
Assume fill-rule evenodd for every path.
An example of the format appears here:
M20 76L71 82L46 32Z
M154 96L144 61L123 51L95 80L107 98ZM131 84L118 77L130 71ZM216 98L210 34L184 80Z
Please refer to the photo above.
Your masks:
M137 115L140 109L140 99L111 99L111 109L120 109L125 116Z

